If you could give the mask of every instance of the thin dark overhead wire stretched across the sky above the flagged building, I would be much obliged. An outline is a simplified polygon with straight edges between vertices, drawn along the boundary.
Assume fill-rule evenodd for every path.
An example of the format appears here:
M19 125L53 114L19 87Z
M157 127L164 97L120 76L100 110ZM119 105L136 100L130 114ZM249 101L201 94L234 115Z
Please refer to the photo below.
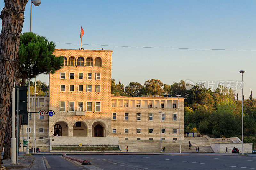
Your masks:
M81 45L77 43L66 43L66 42L54 42L58 44L73 44ZM215 49L215 48L174 48L174 47L143 47L143 46L120 46L120 45L101 45L101 44L82 44L91 46L110 46L110 47L133 47L133 48L163 48L163 49L195 49L195 50L224 50L224 51L256 51L256 49Z

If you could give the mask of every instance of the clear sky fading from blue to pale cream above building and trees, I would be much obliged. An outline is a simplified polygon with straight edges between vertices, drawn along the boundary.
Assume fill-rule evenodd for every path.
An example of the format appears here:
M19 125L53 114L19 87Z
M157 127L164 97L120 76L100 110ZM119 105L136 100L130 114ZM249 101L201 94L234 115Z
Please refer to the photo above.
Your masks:
M84 44L256 49L255 1L67 1L42 0L32 9L32 31L53 42ZM0 8L4 6L1 0ZM30 1L22 32L29 31ZM60 49L80 45L58 44ZM240 80L244 95L256 95L256 51L127 48L83 45L114 50L112 78L124 85L149 79L163 83L190 79ZM38 76L48 83L48 77ZM241 92L240 92L241 99Z

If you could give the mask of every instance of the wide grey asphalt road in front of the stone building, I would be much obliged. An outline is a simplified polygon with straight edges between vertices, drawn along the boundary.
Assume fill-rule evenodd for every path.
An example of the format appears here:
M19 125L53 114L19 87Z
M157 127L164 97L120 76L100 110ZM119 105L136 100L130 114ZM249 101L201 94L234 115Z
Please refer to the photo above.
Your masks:
M256 169L256 154L166 154L166 155L69 155L88 159L92 166L79 166L60 155L44 157L47 169ZM98 168L95 168L98 167ZM87 167L87 168L86 168Z

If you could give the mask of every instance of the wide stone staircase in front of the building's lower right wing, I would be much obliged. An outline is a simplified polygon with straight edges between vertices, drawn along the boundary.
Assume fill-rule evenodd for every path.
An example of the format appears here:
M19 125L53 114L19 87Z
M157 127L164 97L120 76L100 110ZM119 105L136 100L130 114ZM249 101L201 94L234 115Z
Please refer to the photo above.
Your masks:
M189 149L188 141L191 142L192 146ZM221 141L208 140L206 137L185 137L184 141L181 141L181 152L195 153L196 147L199 147L201 153L214 153L210 144L219 143ZM227 141L225 141L227 142ZM230 141L230 143L233 143ZM122 152L126 152L128 146L129 152L160 152L160 141L146 141L146 140L119 140L119 145ZM180 142L179 141L162 141L162 148L165 147L165 152L179 153Z

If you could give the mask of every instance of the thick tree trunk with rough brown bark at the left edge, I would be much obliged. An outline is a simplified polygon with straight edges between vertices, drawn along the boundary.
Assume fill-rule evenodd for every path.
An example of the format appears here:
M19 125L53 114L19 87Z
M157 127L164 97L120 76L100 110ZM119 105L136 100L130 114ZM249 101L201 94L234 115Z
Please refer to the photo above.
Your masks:
M4 146L7 115L11 104L14 77L18 73L20 33L28 0L4 0L0 34L0 155ZM0 159L0 163L2 160Z

